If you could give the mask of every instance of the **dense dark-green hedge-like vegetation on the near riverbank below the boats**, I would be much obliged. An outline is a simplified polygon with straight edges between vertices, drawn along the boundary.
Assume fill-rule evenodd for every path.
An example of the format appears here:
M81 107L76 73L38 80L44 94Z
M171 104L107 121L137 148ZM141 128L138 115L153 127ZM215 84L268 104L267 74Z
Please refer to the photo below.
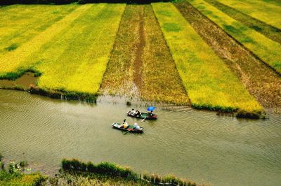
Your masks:
M119 183L120 185L154 185L154 184L170 184L170 185L190 185L195 186L196 183L190 180L177 178L176 176L161 177L157 174L148 175L146 173L138 174L129 167L117 166L116 164L101 162L100 164L84 163L78 159L63 159L62 169L65 171L62 176L72 176L72 180L88 178L88 180L99 180L105 183ZM119 179L119 178L122 178Z

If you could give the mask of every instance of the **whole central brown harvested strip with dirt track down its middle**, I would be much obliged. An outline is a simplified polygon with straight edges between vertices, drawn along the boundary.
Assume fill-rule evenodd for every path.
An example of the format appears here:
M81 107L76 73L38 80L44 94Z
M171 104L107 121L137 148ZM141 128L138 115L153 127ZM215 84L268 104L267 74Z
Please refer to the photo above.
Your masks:
M189 104L150 5L126 6L100 92Z

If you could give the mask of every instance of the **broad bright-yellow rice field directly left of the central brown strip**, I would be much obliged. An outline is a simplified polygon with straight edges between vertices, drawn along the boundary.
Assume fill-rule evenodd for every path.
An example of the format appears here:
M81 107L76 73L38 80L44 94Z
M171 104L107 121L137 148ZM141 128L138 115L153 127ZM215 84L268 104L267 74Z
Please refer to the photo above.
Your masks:
M106 69L124 4L86 4L0 59L0 71L40 71L38 86L96 94ZM85 71L85 69L87 69Z

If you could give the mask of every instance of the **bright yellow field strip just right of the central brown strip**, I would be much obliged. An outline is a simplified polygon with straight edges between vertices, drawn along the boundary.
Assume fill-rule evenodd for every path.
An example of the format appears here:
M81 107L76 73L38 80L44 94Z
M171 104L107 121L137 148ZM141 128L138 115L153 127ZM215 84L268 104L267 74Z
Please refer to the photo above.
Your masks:
M195 108L259 113L253 96L171 3L152 3L183 85Z

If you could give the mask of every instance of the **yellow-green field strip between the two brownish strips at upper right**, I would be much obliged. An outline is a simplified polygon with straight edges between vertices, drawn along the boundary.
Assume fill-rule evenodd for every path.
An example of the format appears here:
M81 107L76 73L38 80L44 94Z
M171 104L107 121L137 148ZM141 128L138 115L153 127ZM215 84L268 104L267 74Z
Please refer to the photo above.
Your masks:
M209 17L210 20L218 24L230 36L233 36L233 38L251 50L263 62L266 62L275 71L281 73L281 45L279 43L266 38L266 36L253 29L249 29L244 24L237 22L203 0L187 1Z

